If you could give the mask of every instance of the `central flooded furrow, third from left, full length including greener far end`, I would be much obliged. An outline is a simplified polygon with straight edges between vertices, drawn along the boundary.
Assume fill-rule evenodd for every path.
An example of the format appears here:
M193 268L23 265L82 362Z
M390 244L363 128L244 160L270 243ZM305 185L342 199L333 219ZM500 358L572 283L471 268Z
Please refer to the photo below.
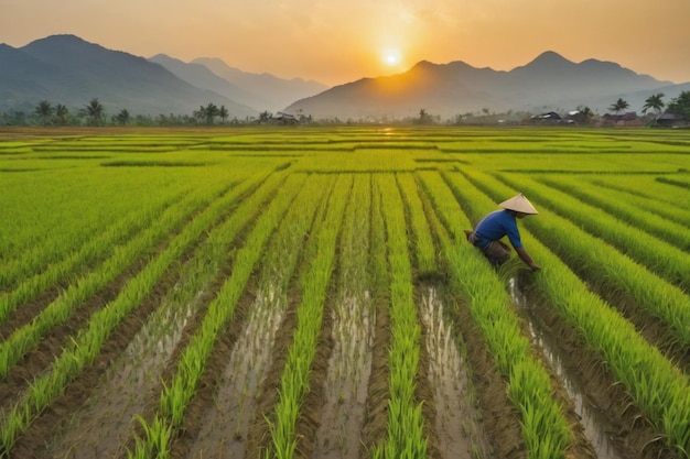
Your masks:
M328 354L324 356L319 400L311 407L320 413L312 442L313 458L357 459L365 422L371 373L371 348L376 314L367 277L370 262L370 177L354 181L339 236L336 282L327 295L324 330Z

